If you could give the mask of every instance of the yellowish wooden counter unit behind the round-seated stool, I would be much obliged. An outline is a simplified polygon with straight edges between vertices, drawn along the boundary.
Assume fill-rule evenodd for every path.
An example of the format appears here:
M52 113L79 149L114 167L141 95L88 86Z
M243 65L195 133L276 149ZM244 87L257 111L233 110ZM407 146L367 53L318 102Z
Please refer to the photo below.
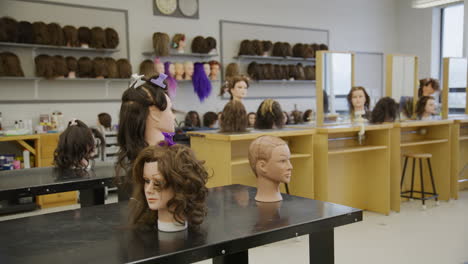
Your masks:
M431 165L439 200L449 200L451 195L451 154L453 120L406 121L395 123L391 133L391 208L399 212L400 181L403 170L403 154L430 153ZM408 161L403 189L411 182L412 160ZM432 191L427 168L423 162L423 174L427 191ZM419 165L415 168L415 190L420 190Z

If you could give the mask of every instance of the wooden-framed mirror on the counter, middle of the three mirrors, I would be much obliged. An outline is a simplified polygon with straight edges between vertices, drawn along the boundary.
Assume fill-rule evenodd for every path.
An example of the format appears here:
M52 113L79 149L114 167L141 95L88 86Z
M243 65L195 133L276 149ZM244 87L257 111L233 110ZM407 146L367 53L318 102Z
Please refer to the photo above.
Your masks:
M418 97L418 58L411 55L388 55L386 83L385 95L400 103L402 120L410 119Z

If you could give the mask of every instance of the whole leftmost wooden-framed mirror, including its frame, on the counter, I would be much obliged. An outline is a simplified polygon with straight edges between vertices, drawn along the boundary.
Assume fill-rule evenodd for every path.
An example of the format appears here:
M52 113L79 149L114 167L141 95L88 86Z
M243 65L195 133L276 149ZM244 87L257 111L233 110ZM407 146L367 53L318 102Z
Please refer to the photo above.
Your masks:
M346 96L354 85L354 54L320 51L316 69L317 125L348 122Z

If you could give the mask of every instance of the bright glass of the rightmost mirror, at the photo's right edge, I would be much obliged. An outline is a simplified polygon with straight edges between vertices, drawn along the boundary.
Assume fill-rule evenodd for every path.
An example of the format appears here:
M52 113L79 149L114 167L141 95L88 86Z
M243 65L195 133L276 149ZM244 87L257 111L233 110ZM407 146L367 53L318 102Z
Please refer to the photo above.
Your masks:
M464 114L466 110L466 87L467 87L467 59L466 58L446 58L444 63L448 63L447 85L448 89L448 113ZM445 71L445 69L444 69Z

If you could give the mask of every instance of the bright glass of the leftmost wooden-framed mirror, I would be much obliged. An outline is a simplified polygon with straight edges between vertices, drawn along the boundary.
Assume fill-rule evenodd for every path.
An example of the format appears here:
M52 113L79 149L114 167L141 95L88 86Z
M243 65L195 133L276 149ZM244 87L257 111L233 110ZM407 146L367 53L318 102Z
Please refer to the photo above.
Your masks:
M326 122L345 121L349 115L346 95L353 86L353 59L351 53L325 53L324 101L328 99L325 109ZM327 97L325 97L327 96ZM328 110L328 111L327 111ZM328 113L328 114L327 114Z

